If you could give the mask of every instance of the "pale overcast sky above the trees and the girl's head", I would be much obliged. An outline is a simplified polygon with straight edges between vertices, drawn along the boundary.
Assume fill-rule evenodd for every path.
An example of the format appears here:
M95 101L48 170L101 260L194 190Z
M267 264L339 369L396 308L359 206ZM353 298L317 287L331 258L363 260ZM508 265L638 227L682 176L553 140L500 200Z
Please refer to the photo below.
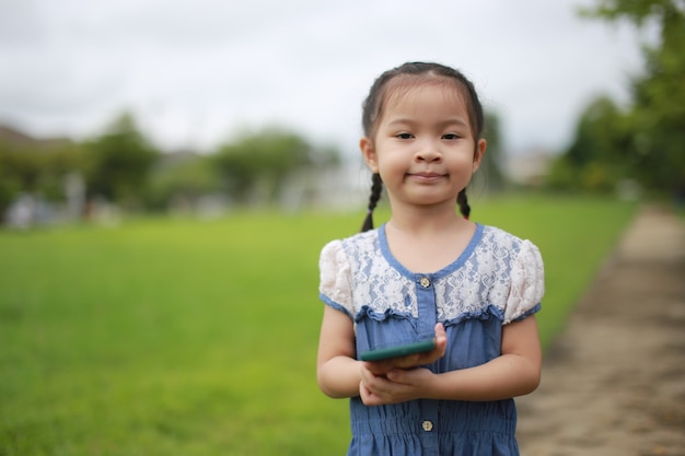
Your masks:
M0 122L80 139L128 109L167 150L279 125L351 152L373 79L433 60L471 77L510 151L558 150L641 67L643 34L589 3L0 0Z

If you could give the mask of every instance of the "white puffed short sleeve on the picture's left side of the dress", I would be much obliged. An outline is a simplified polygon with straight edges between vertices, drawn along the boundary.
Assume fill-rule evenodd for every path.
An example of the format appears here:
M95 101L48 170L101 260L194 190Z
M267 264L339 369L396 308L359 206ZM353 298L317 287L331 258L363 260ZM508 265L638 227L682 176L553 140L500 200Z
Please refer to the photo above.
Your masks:
M327 305L353 315L350 264L340 241L332 241L321 250L318 293Z

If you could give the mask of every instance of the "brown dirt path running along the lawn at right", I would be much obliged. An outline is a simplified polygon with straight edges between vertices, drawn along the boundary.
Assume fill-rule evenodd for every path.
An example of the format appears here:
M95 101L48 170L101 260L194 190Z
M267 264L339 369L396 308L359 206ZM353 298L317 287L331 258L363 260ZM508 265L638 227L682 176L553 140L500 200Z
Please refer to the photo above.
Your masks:
M522 456L685 455L682 220L639 213L518 404Z

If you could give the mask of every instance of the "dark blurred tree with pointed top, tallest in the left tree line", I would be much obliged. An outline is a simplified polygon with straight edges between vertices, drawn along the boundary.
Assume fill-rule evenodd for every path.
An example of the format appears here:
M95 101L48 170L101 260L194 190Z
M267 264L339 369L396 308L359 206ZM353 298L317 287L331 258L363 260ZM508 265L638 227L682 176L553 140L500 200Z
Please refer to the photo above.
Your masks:
M120 115L98 138L86 142L89 197L132 207L142 199L159 152L138 130L133 117Z

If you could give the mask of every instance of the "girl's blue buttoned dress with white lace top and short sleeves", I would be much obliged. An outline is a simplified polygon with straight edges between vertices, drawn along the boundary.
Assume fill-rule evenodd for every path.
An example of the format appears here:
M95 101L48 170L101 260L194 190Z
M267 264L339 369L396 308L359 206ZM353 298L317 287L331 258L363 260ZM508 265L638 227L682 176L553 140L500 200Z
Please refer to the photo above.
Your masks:
M539 250L502 230L478 224L462 255L433 273L415 273L391 254L385 226L327 244L321 254L322 301L355 324L357 353L434 336L445 355L436 373L484 364L501 353L502 325L539 311ZM348 455L518 455L513 399L413 400L364 406L350 399Z

